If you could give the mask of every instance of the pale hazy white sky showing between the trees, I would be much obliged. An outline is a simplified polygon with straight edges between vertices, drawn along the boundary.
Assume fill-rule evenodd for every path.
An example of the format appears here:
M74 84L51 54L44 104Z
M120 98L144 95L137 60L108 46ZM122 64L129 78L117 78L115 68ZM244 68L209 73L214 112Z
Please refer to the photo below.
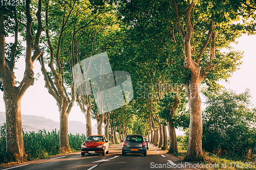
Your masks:
M252 96L252 103L256 105L256 36L243 35L239 38L238 44L233 44L234 50L244 51L244 58L242 58L243 64L240 69L234 72L232 78L229 79L229 83L224 81L221 83L226 88L231 88L237 92L244 92L246 88L250 89ZM15 70L15 76L18 81L21 81L25 69L24 58L21 58L19 62L16 63L18 69ZM39 76L38 80L35 81L33 86L30 86L22 98L22 114L30 114L37 116L44 116L46 118L51 118L56 122L59 122L59 112L56 105L56 101L48 93L47 88L45 88L44 77L41 74L40 64L38 61L34 63L34 74L35 77L37 73ZM5 111L5 104L3 100L3 92L0 91L0 111ZM81 113L80 108L75 104L69 115L69 120L76 120L82 123L86 122L84 115ZM96 124L96 120L92 122L93 126Z

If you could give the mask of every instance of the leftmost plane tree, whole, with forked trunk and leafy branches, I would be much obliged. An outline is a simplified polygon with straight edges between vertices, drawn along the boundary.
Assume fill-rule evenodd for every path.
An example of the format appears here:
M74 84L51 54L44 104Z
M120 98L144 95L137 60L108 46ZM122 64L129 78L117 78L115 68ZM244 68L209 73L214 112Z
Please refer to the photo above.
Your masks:
M37 19L31 14L31 8L37 10ZM41 0L37 4L27 0L20 6L0 7L0 86L4 91L6 108L6 150L16 154L19 160L25 158L20 102L26 90L34 84L33 63L41 54L39 40L43 30ZM22 54L23 47L18 40L20 35L27 43L25 54ZM14 36L14 42L6 43L5 37L8 36ZM21 82L17 82L14 75L15 62L22 55L25 56L24 77Z

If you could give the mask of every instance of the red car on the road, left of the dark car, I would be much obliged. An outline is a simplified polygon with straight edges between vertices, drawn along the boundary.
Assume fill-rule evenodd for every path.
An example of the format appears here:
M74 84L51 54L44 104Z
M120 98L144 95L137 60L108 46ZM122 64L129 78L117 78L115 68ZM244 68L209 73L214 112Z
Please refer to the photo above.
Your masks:
M81 155L88 153L100 153L102 155L109 154L109 141L103 135L91 135L82 142Z

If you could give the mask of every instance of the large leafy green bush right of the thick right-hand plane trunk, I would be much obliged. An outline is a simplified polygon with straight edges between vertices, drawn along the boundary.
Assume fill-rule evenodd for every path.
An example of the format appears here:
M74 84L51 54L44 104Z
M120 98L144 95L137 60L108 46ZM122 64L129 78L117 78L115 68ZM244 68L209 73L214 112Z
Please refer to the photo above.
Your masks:
M219 94L205 91L207 107L203 111L202 148L217 153L244 154L256 142L255 109L250 109L250 93L223 90ZM255 152L255 151L254 151Z

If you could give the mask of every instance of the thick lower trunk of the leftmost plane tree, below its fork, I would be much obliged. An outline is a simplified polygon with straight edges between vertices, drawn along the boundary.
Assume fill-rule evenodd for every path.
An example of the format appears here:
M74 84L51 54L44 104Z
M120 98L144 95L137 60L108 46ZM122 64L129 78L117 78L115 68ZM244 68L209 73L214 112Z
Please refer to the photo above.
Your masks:
M20 110L20 100L16 92L4 92L4 102L6 111L6 142L7 152L16 153L17 160L23 161L25 148L22 133L22 115Z

